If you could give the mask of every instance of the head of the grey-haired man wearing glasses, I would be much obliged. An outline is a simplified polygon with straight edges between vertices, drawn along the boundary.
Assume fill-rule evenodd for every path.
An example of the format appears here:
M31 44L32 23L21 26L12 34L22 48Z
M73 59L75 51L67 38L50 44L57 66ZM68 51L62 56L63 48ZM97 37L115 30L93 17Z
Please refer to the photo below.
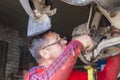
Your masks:
M48 32L33 40L30 52L37 63L40 63L40 59L54 60L64 51L66 43L67 41L60 38L59 34Z

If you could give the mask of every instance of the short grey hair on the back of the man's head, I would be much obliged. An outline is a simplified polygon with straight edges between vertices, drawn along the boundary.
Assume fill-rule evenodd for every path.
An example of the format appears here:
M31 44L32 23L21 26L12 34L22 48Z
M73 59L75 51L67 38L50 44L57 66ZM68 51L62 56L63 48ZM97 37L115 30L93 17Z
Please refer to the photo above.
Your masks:
M31 52L37 63L39 63L39 59L41 58L39 50L44 42L45 38L33 39L31 46L29 47L29 51Z

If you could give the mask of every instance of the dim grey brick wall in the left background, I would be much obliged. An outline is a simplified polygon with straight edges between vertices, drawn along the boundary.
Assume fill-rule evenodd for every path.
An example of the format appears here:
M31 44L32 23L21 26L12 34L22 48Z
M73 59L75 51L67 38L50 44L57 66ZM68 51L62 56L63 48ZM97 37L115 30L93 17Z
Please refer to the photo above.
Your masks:
M17 73L19 68L20 47L28 45L28 39L20 36L19 32L0 24L0 40L8 43L5 76ZM6 79L8 80L8 79Z

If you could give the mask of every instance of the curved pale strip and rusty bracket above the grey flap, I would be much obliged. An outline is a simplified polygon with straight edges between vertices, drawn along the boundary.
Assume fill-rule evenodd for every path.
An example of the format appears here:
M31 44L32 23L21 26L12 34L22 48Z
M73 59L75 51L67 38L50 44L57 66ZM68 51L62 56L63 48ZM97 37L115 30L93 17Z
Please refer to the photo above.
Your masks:
M45 0L19 0L26 13L32 18L40 18L41 15L47 14L52 16L56 13L56 8L51 10L51 6L45 5ZM33 4L34 9L31 7L30 2Z

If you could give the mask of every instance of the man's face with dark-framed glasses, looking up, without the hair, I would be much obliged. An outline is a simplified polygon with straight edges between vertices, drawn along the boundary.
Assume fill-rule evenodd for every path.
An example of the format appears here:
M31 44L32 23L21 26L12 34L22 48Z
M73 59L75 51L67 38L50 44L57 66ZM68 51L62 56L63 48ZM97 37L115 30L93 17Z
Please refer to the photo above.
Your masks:
M45 35L45 38L48 40L45 48L47 48L52 58L57 58L64 51L67 41L60 38L59 34L55 32L49 32Z

